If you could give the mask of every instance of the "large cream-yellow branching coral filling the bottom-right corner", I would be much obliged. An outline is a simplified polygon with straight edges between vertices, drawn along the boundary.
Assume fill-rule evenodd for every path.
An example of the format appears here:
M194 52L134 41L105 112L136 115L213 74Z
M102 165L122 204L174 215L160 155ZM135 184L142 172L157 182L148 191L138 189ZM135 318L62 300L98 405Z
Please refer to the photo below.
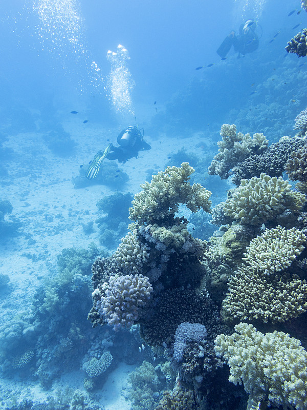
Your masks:
M283 332L262 334L247 323L231 336L214 340L215 353L230 367L229 381L244 384L250 397L267 397L271 405L307 408L307 352Z

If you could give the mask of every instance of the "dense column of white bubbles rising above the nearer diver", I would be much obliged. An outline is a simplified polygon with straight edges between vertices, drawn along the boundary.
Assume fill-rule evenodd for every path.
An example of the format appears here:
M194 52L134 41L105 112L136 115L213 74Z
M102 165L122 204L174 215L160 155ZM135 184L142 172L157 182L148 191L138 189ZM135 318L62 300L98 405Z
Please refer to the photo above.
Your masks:
M127 68L127 60L130 59L128 50L119 45L116 52L109 50L106 58L111 63L111 73L106 86L108 98L118 113L134 116L131 91L135 82Z

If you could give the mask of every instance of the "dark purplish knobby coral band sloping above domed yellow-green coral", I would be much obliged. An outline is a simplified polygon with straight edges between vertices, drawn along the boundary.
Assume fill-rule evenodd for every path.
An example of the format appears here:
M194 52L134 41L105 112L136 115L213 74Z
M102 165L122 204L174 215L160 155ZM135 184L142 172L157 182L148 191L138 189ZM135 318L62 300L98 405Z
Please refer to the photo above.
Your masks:
M250 179L253 176L259 177L261 172L265 172L270 177L282 176L291 153L303 147L305 143L305 138L297 136L280 138L278 142L272 144L261 154L251 155L233 167L232 182L239 186L241 179Z

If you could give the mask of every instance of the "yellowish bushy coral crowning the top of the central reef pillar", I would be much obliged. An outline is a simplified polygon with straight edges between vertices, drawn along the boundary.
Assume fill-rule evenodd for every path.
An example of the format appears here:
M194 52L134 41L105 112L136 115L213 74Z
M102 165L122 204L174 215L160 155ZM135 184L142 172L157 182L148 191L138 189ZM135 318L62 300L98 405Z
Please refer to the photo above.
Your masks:
M193 172L188 162L183 162L180 168L167 167L164 172L153 175L150 183L141 184L143 190L135 195L129 218L139 223L170 221L179 203L185 203L192 212L201 208L208 212L211 192L199 183L190 185L188 180Z

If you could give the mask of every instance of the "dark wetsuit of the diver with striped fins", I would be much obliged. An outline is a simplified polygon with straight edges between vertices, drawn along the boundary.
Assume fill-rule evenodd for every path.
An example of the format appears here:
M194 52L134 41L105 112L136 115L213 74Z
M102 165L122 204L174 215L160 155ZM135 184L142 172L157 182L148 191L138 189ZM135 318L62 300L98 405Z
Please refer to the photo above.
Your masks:
M117 142L119 147L111 146L111 152L106 156L107 159L117 159L118 162L125 163L130 158L137 158L139 151L148 151L151 149L150 145L144 141L141 134L135 134L134 138L131 139L131 142L128 146L123 147L120 145L120 139L126 130L123 130L117 137Z

